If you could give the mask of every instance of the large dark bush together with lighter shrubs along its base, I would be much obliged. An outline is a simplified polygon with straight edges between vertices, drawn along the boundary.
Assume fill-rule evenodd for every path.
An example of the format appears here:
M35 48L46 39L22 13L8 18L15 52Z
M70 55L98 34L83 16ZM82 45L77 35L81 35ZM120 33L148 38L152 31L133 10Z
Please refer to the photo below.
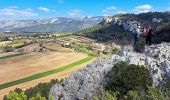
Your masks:
M119 62L108 72L109 84L93 100L170 100L170 79L161 88L151 87L150 73L139 65Z

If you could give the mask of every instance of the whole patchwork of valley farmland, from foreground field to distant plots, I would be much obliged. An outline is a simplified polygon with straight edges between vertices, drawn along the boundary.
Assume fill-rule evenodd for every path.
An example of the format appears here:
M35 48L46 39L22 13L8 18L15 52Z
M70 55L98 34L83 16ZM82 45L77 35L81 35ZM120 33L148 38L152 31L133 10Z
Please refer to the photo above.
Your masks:
M1 41L0 99L15 88L66 78L98 55L90 48L96 42L92 39L70 34L47 37Z

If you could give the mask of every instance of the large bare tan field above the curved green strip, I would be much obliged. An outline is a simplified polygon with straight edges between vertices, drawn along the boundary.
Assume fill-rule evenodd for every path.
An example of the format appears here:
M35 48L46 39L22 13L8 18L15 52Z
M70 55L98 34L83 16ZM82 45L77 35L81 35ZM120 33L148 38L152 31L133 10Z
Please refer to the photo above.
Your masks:
M74 52L43 52L1 59L0 84L52 70L73 63L84 57L85 55Z

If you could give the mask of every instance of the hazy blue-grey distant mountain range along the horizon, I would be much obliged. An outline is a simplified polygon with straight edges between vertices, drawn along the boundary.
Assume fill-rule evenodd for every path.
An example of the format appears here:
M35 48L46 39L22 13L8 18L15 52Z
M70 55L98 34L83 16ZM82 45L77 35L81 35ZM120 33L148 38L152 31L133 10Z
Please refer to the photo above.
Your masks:
M0 20L0 32L77 32L103 21L102 16L39 20Z

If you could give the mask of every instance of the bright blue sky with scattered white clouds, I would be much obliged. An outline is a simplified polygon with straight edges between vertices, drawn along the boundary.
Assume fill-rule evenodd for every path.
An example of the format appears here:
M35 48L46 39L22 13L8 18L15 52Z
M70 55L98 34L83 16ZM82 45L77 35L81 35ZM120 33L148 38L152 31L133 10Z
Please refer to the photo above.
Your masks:
M0 0L0 20L170 11L170 0Z

